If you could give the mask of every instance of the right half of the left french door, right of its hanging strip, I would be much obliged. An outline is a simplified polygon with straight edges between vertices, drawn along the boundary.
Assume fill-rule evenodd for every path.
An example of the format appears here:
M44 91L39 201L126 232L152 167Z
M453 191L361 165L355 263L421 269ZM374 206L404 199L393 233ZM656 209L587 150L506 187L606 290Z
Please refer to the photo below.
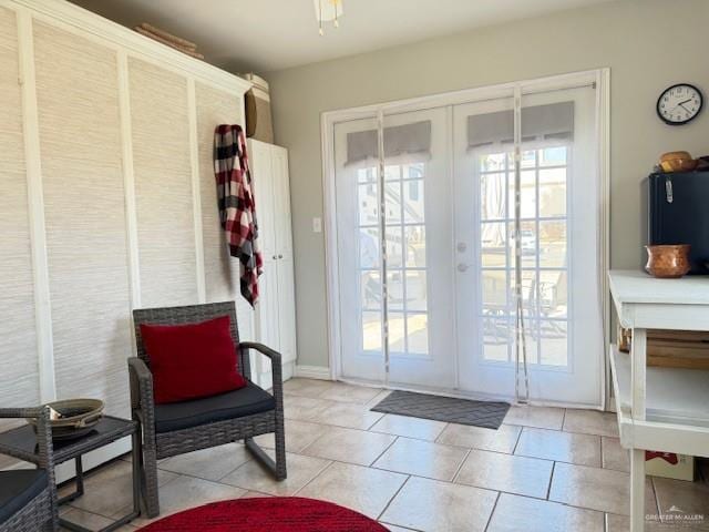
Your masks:
M453 388L446 109L384 116L389 382Z

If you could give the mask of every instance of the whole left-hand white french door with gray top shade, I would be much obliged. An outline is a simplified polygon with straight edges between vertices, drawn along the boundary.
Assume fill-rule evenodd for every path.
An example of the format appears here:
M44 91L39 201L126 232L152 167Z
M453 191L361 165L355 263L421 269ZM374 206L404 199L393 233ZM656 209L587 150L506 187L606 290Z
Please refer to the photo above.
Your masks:
M445 109L335 125L346 377L455 386L449 141Z

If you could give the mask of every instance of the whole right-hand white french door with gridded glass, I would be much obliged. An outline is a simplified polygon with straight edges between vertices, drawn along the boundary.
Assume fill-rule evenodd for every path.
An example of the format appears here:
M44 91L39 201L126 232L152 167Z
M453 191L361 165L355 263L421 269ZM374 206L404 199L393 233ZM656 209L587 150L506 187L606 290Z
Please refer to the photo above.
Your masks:
M531 397L599 405L595 116L590 86L523 96L517 236L513 100L455 108L463 389L514 393L518 249Z

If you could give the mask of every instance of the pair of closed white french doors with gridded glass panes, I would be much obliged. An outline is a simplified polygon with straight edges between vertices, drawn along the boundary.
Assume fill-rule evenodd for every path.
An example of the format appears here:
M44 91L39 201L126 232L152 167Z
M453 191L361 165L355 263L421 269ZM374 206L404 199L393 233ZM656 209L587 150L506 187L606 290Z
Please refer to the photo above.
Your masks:
M333 123L341 377L600 405L595 79Z

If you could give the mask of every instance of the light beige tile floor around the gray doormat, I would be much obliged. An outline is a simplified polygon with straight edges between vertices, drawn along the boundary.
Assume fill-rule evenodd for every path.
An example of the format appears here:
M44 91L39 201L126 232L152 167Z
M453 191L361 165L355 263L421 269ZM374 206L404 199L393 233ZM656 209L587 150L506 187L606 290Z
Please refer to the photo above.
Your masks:
M490 430L371 412L387 395L374 388L292 379L284 389L288 480L274 481L240 443L163 460L161 516L224 499L300 495L349 507L394 532L628 530L629 463L614 415L512 407ZM274 447L273 436L257 441ZM648 515L676 507L707 518L695 528L650 522L646 530L709 530L709 469L702 475L693 483L648 478ZM105 526L127 512L130 482L129 463L115 461L91 473L86 495L62 514Z

